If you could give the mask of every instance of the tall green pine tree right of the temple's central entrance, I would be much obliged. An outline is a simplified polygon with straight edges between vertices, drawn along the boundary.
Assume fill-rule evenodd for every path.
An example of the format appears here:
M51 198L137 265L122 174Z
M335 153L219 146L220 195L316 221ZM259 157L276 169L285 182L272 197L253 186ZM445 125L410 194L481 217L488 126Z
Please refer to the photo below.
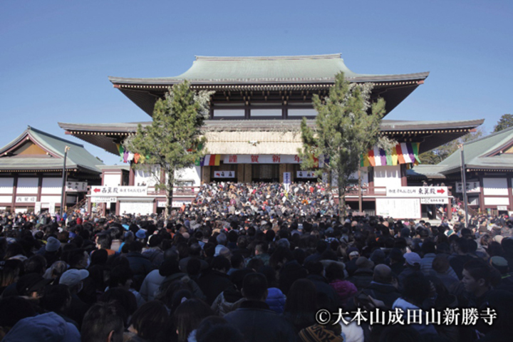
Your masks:
M394 143L380 136L380 123L385 115L385 100L380 98L371 103L373 84L350 83L343 73L336 76L335 85L330 88L328 97L321 99L314 95L316 128L301 122L303 149L299 155L301 167L309 170L316 167L318 158L326 162L316 174L327 172L331 188L336 179L338 187L338 212L346 214L346 188L354 172L360 167L361 156L374 145L390 150ZM361 180L359 180L361 181ZM331 189L330 189L331 191Z

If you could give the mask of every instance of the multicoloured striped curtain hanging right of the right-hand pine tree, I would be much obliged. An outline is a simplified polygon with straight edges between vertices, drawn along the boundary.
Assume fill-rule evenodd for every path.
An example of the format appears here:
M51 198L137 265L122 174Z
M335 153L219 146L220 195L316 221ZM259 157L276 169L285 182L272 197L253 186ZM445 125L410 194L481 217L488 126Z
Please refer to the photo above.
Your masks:
M390 153L385 150L374 147L369 150L367 155L362 155L360 165L365 166L385 166L413 164L418 165L419 142L401 142L393 147Z

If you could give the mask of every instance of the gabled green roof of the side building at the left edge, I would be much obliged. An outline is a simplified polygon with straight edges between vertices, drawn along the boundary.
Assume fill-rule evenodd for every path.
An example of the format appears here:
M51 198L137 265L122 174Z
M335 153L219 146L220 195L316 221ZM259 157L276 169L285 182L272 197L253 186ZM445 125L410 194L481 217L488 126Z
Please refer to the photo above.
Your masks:
M91 155L83 145L58 138L55 135L51 135L32 128L28 128L21 133L18 138L9 142L6 146L2 147L0 153L3 153L9 148L13 147L21 140L29 137L34 142L41 145L49 152L57 155L55 157L0 157L0 169L3 170L27 170L27 169L60 169L63 166L64 148L69 146L68 157L66 158L66 168L72 169L81 167L82 169L88 170L89 172L101 173L101 170L97 165L103 165L96 157Z

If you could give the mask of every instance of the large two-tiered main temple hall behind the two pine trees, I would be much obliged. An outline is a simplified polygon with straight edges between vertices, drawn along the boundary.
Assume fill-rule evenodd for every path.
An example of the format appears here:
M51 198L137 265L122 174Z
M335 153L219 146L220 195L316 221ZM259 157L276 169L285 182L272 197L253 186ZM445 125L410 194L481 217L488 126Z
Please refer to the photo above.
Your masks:
M384 98L390 113L410 93L425 82L429 73L398 75L358 74L349 70L340 54L322 56L278 57L197 57L192 67L180 76L170 78L116 78L110 77L114 88L120 90L145 113L152 115L155 101L176 83L189 81L196 90L213 90L209 120L204 126L209 155L178 177L178 187L190 187L177 195L176 204L194 198L194 187L202 182L283 182L289 175L292 182L316 181L311 170L301 170L297 155L301 147L300 123L307 118L315 125L316 110L312 96L328 95L337 73L343 72L352 83L373 83L371 100ZM363 209L369 213L394 217L420 218L425 212L420 197L413 200L401 191L408 185L409 167L418 163L418 154L432 150L446 142L465 135L483 120L464 121L407 121L383 120L381 131L398 142L394 156L385 151L369 151L363 163ZM148 123L142 123L147 125ZM135 134L138 123L80 124L59 123L66 134L71 134L118 154L118 145ZM322 160L319 167L322 167ZM128 186L149 184L128 170ZM105 183L105 179L104 179ZM98 192L101 192L99 190ZM148 192L152 192L151 185ZM147 194L148 194L147 192ZM447 204L447 188L440 192ZM180 193L178 193L180 194ZM420 196L421 195L421 196ZM94 193L91 197L97 197ZM159 208L161 195L146 195ZM162 195L163 196L163 195ZM181 196L180 199L178 199ZM187 197L189 196L189 197ZM121 197L122 198L122 197ZM143 197L140 197L143 198ZM350 192L348 204L358 209L358 193ZM116 199L116 202L119 202ZM410 212L403 209L408 202ZM141 212L150 204L140 202ZM119 204L106 207L119 208ZM423 209L424 208L424 209ZM134 208L133 208L134 209ZM117 213L123 213L123 210ZM404 215L404 216L400 216Z

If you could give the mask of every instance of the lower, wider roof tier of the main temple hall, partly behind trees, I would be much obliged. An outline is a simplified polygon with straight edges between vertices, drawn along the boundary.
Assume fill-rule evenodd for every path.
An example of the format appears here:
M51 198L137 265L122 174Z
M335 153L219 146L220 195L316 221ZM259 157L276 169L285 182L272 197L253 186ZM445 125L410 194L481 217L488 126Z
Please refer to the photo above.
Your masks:
M433 148L450 142L462 135L469 133L471 130L481 125L484 120L461 120L461 121L408 121L408 120L383 120L381 123L381 131L400 141L420 142L420 153L432 150ZM281 135L286 132L299 133L301 120L206 120L205 133L224 133L229 135L234 133L240 139L239 133L261 132L266 135L262 136L262 140L271 141L267 135L269 133L277 133L276 141L283 140ZM130 133L137 132L138 125L150 125L151 122L142 123L103 123L103 124L81 124L81 123L59 123L66 134L71 134L90 142L93 145L102 147L108 152L118 153L116 143L122 142ZM307 124L315 126L315 120L307 120ZM301 135L296 134L298 143L301 141ZM217 139L219 140L219 139ZM235 140L227 138L225 142L237 143ZM248 138L244 138L247 142ZM251 140L259 140L252 138ZM242 140L241 140L242 141ZM219 140L219 142L221 142ZM273 152L273 151L269 151ZM214 152L212 152L214 153ZM223 152L224 153L224 152ZM219 152L219 154L222 154Z

